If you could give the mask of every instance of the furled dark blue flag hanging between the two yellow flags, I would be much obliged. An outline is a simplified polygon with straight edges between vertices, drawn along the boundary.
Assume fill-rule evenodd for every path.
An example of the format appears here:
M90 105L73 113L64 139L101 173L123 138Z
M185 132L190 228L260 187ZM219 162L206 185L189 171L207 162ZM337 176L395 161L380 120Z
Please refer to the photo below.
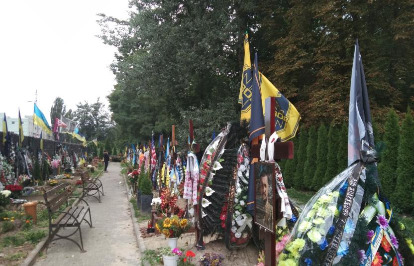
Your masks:
M260 92L259 69L257 68L257 53L254 54L253 90L250 116L249 143L253 138L265 133L265 120L263 118L262 96Z

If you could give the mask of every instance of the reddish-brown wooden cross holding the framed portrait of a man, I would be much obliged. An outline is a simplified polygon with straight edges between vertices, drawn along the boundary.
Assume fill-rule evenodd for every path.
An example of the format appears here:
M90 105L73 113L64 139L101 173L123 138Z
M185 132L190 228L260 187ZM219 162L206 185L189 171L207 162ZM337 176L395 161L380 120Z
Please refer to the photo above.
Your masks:
M270 135L275 132L275 109L276 109L276 98L269 97L265 100L265 136L270 139ZM273 159L293 159L293 142L275 142L274 143L274 154ZM266 157L267 152L265 152ZM260 144L254 143L251 148L252 161L257 161L260 158ZM272 159L272 158L267 158ZM276 193L276 210L280 210L281 199ZM282 218L282 213L274 213L273 221L277 221L278 218ZM275 230L275 229L274 229ZM265 266L274 266L276 264L276 242L275 235L261 230L261 236L264 234L265 239Z

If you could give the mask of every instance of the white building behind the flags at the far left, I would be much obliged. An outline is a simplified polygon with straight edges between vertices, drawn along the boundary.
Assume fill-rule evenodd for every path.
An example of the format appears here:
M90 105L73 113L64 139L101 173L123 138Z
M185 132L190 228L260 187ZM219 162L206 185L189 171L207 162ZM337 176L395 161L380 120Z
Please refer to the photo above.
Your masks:
M3 119L4 113L0 113L0 132L3 131ZM18 118L9 118L6 116L7 121L7 130L9 132L18 134L19 133L19 119ZM34 136L40 137L42 129L37 125L33 125L33 116L24 116L21 118L21 126L23 127L23 135L25 136ZM43 132L43 139L54 139L53 135Z

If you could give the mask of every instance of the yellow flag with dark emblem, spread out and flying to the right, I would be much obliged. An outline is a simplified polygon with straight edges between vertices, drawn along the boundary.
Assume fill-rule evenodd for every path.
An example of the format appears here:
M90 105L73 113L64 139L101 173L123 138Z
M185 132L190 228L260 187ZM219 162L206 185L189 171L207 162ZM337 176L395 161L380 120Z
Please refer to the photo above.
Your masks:
M295 106L262 73L259 74L259 81L262 93L263 115L265 113L266 98L276 97L275 131L281 138L281 141L291 139L298 131L301 115Z

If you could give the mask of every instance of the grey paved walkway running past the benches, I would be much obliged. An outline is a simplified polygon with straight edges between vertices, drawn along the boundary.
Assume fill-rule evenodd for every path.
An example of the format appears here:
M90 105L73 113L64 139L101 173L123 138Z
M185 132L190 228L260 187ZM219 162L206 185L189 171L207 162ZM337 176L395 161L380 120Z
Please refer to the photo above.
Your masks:
M93 197L86 199L91 207L95 227L90 228L85 222L81 225L84 249L87 252L80 253L71 241L54 241L49 245L47 257L38 259L35 266L141 265L125 184L119 170L119 163L110 162L108 172L101 176L105 193L101 197L102 203ZM65 231L69 230L72 229ZM80 240L79 233L73 237L76 241Z

